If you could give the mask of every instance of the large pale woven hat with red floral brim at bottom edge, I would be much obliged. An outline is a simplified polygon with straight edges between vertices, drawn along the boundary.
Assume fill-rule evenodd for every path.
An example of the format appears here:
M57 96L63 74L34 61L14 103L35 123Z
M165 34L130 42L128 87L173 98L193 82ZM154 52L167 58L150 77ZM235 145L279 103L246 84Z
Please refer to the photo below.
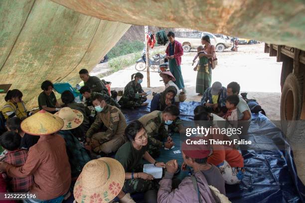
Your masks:
M125 170L120 162L103 157L89 161L79 175L73 190L76 202L108 203L122 190Z

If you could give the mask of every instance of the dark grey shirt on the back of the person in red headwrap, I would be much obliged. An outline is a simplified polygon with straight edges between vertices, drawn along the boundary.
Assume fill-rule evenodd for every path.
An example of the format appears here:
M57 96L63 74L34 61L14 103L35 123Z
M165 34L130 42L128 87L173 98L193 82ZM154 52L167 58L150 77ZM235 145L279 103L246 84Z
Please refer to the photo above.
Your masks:
M226 190L224 187L224 180L219 169L212 165L212 167L207 171L201 171L209 186L214 186L223 195L226 195Z

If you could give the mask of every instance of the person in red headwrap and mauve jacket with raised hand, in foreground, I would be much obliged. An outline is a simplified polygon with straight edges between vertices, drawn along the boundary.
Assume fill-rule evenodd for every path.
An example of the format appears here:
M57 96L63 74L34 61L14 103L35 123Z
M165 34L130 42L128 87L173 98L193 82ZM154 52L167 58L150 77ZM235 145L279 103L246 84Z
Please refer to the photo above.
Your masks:
M218 195L227 199L224 196L224 180L219 170L206 163L210 152L204 145L182 143L182 170L186 164L193 169L192 175L185 177L178 188L172 191L172 178L178 170L178 163L176 160L168 161L167 171L159 182L158 203L215 203L219 199Z

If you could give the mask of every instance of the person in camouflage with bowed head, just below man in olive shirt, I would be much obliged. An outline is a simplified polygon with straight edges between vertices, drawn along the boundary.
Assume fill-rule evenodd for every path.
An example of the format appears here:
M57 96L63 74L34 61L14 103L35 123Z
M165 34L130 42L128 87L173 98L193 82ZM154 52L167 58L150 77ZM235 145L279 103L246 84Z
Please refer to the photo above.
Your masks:
M121 108L120 104L117 101L115 101L114 99L112 99L110 96L103 94L103 93L91 92L91 90L88 86L83 86L79 90L79 92L80 92L80 94L83 95L84 98L86 98L86 101L85 101L86 106L93 106L92 99L95 95L99 94L105 98L106 103L108 103L109 105L116 106L117 108Z

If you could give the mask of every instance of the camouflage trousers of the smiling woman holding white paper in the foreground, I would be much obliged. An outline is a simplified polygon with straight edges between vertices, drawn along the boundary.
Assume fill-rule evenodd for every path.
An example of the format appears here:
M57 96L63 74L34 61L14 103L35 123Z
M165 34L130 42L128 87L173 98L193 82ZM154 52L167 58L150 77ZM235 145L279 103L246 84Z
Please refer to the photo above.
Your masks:
M139 165L135 173L141 173L143 165ZM141 178L125 180L123 191L126 193L145 193L149 190L158 190L159 184L157 180L144 180Z

